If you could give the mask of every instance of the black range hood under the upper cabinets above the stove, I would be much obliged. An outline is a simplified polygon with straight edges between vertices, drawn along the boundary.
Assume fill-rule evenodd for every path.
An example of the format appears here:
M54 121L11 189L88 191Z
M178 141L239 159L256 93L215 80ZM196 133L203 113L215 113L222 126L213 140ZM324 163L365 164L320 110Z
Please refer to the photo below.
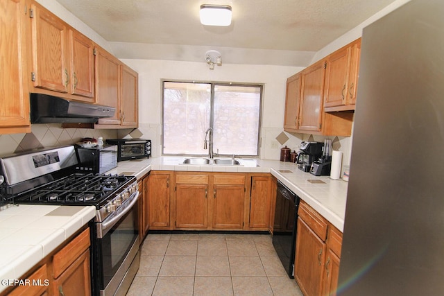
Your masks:
M31 123L97 123L112 117L116 108L68 101L47 94L30 94Z

